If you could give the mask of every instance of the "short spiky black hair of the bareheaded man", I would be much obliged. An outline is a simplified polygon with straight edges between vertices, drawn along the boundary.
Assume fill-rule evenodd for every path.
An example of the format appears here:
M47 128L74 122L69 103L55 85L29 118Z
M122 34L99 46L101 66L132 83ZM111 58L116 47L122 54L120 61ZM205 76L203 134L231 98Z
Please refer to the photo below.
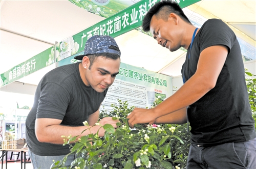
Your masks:
M173 2L171 0L163 0L156 3L150 10L148 10L142 22L143 31L150 31L150 22L153 15L156 15L158 19L161 18L164 21L167 21L170 13L175 13L176 15L180 16L184 21L191 24L189 19L186 17L186 15L176 2Z

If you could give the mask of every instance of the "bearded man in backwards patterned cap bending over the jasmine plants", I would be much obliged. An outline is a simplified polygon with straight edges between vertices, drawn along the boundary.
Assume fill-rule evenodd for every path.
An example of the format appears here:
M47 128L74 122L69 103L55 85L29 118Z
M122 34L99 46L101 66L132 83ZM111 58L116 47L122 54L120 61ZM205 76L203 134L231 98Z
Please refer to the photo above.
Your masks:
M34 105L26 120L26 141L34 168L50 168L53 160L61 160L70 152L63 146L61 135L80 135L99 118L99 107L120 67L120 50L110 36L93 36L84 47L84 54L75 57L81 62L58 67L39 82ZM117 120L104 118L101 125L117 127ZM91 133L103 136L100 126ZM86 130L82 135L89 134ZM80 136L82 136L80 135ZM74 156L69 156L69 166Z

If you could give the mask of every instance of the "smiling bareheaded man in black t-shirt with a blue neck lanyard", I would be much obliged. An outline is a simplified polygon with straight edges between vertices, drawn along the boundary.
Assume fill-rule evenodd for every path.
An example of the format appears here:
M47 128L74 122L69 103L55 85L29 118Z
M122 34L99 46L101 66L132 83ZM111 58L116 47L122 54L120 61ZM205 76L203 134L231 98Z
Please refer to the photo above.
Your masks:
M184 85L152 109L135 108L138 123L191 126L187 168L256 168L256 135L236 35L219 19L198 29L172 1L155 4L143 19L158 44L187 49Z

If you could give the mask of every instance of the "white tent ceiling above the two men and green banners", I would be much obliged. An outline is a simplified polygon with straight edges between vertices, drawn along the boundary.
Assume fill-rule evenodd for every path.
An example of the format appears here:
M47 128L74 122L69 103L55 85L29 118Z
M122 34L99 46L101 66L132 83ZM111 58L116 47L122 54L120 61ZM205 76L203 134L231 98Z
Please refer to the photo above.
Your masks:
M255 1L200 1L188 8L206 18L221 18L243 32L255 47ZM69 1L1 1L0 73L103 20ZM170 76L180 75L185 52L168 49L136 30L115 38L121 62ZM254 44L253 44L254 43ZM37 85L54 65L19 79Z

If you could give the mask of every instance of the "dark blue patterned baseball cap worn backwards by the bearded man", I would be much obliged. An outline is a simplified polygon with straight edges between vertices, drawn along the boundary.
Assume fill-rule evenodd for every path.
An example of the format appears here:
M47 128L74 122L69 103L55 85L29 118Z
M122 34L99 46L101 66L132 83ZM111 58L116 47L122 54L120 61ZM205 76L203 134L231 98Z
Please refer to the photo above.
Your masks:
M111 36L94 35L86 42L84 46L84 54L76 56L74 59L82 60L82 58L88 54L99 54L99 53L116 53L121 55L120 51L110 49L110 46L115 46L119 49L116 41Z

